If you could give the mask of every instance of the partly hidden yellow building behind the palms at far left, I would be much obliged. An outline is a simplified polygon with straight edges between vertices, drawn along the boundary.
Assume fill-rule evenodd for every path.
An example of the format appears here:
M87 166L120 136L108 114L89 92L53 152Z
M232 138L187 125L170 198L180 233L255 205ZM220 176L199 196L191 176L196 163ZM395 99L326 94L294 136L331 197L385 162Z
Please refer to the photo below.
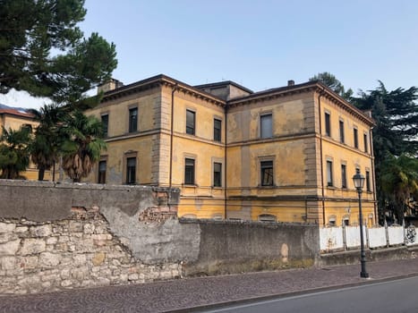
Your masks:
M3 132L3 128L6 130L19 130L22 127L29 127L31 130L35 130L38 126L38 122L34 121L33 115L27 112L2 106L0 107L0 135ZM21 173L21 176L27 180L38 180L38 169L36 165L30 163L28 169ZM49 177L49 173L45 173L46 179Z

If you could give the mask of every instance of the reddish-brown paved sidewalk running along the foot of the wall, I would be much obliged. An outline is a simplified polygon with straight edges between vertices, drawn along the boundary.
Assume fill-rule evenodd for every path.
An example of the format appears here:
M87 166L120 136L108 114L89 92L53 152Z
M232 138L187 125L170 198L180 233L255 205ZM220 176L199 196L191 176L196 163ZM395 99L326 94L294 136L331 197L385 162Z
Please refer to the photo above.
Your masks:
M187 312L222 302L418 275L418 258L370 262L367 271L368 280L360 278L360 265L354 265L6 296L0 297L0 312Z

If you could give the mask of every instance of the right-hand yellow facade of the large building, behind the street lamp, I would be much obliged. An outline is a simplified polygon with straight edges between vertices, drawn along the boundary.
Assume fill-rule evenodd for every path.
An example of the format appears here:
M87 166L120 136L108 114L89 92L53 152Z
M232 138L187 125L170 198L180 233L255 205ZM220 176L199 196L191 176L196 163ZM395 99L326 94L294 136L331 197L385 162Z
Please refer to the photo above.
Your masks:
M325 113L330 116L330 136L325 131ZM365 175L369 171L371 175L371 191L363 188L363 218L368 224L377 223L374 205L374 179L373 163L371 157L370 126L353 114L348 114L341 106L330 101L328 98L320 98L320 118L322 119L322 150L323 150L323 177L324 185L327 186L327 161L333 165L332 187L324 189L328 200L325 202L325 224L335 218L336 224L340 225L344 218L349 219L350 224L358 223L358 194L354 188L353 176L356 168ZM344 121L345 140L340 140L339 121ZM358 130L358 148L354 148L354 128ZM364 150L363 134L367 134L367 152ZM341 165L346 166L347 187L342 188ZM334 199L334 200L333 200ZM349 201L344 199L350 199ZM370 217L372 216L372 222Z

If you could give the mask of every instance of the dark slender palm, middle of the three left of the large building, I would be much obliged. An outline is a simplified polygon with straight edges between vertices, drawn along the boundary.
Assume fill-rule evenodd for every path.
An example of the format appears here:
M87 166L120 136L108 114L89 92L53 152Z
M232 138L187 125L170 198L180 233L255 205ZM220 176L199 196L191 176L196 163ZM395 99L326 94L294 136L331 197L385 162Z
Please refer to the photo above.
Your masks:
M39 122L30 145L30 157L38 165L38 181L43 181L45 171L58 161L58 148L62 140L59 127L68 113L56 104L45 105L39 111L30 110L30 113Z

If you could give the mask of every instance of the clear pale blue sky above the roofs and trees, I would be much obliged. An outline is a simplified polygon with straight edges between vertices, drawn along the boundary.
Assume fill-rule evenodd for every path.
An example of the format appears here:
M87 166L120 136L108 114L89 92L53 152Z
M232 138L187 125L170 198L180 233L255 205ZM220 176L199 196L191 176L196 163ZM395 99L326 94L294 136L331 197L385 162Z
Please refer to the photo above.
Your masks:
M416 0L86 0L86 37L114 42L113 77L164 73L190 85L234 80L253 91L331 72L346 89L418 86ZM0 103L39 107L13 92Z

